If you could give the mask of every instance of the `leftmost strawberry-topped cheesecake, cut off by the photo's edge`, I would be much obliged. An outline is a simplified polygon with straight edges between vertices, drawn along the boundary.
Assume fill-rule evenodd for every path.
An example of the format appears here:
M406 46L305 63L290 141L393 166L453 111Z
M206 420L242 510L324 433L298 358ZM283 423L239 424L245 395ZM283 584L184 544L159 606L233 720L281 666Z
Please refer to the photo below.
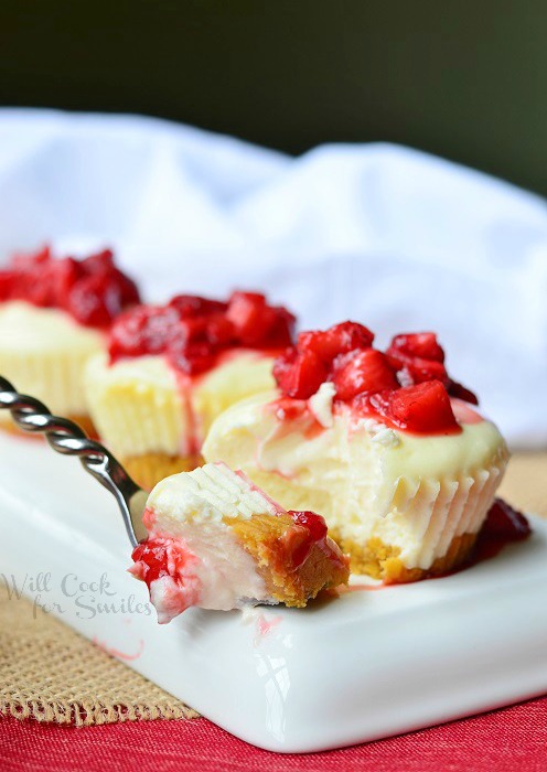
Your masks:
M85 363L106 349L115 317L138 302L109 249L82 260L56 258L49 247L14 256L0 269L0 373L90 430ZM6 415L0 421L11 427Z

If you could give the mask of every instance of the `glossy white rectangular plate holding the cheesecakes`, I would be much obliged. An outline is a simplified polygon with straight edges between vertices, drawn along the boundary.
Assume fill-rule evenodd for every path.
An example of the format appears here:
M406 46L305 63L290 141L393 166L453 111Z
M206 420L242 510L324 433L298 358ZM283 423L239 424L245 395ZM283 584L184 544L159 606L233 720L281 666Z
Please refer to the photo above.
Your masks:
M160 626L144 585L125 570L130 547L110 494L42 440L0 436L0 459L8 582L24 585L36 613L46 607L256 746L339 748L547 691L538 518L528 542L443 579L304 610L192 609Z

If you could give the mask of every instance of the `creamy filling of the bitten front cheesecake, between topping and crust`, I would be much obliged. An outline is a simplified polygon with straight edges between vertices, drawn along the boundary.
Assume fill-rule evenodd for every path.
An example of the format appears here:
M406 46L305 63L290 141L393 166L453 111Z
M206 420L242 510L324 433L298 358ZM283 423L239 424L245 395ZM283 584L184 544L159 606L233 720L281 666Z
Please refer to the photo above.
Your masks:
M507 461L490 421L418 436L335 405L332 426L323 420L313 431L317 407L315 416L304 409L290 417L276 396L251 397L219 416L204 458L243 469L287 507L321 512L343 540L396 547L408 568L427 569L453 538L479 530Z

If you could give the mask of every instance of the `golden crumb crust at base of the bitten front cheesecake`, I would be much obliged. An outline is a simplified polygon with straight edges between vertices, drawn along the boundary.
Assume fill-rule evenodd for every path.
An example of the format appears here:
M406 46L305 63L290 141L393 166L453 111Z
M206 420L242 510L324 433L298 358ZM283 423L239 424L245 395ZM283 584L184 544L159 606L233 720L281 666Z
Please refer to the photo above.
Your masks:
M368 539L363 545L340 537L336 530L331 530L331 536L340 545L343 553L350 555L350 565L353 573L366 573L374 579L380 579L386 585L401 585L410 581L419 581L428 577L438 577L462 566L473 551L478 534L462 534L450 543L447 554L437 558L427 568L407 568L400 560L400 549L387 545L377 537Z

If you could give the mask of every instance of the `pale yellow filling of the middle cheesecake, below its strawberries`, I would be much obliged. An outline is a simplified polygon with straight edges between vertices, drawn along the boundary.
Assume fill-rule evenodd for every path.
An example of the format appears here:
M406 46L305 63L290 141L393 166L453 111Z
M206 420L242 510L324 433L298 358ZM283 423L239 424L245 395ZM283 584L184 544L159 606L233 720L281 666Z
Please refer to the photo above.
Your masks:
M100 436L120 457L191 455L219 412L272 387L271 365L260 352L229 351L213 369L190 377L163 355L109 364L101 354L86 371L87 400Z

